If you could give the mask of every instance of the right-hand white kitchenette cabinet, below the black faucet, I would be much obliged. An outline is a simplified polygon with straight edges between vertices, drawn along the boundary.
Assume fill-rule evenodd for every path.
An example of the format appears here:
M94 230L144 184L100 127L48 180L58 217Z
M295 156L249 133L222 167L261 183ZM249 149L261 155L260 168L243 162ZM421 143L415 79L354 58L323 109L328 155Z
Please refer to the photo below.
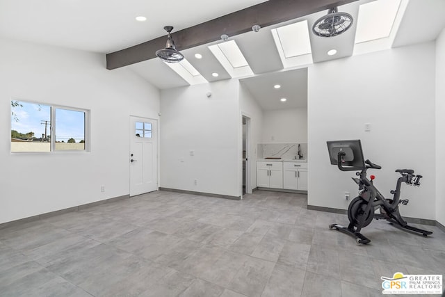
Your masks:
M283 162L283 188L307 191L307 163Z

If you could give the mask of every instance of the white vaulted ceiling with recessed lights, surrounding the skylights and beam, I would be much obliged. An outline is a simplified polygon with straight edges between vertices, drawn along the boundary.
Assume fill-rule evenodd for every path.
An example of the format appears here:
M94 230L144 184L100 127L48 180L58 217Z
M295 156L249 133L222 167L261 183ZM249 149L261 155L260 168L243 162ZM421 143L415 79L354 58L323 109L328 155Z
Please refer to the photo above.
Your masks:
M184 79L158 58L149 58L124 66L160 89L238 77L259 99L264 109L277 109L283 105L280 103L268 104L268 96L289 96L290 98L291 95L286 95L285 90L289 89L291 93L295 94L296 88L304 94L304 88L307 85L304 79L307 65L370 50L366 48L366 45L372 42L356 44L355 40L357 24L360 22L360 7L366 3L374 2L374 0L225 0L211 4L204 0L188 0L175 1L169 7L166 7L164 2L152 0L0 0L0 37L111 54L149 40L157 39L165 45L165 41L163 41L166 40L165 31L163 31L165 25L175 26L172 38L175 40L176 32L179 38L178 42L181 44L184 43L184 40L181 40L181 31L209 21L206 24L211 24L213 19L224 19L225 15L236 13L238 10L249 10L252 6L267 5L270 10L270 15L268 14L267 17L270 19L274 15L273 4L278 7L286 1L292 5L298 3L304 9L314 9L314 6L323 9L315 10L316 12L309 15L298 16L295 19L286 19L284 22L268 23L259 32L247 31L245 28L237 31L232 26L238 22L243 24L241 20L237 19L234 19L231 26L227 26L227 28L221 24L205 26L205 28L209 28L210 32L193 35L193 40L209 38L214 35L211 37L211 41L181 50L186 60L200 72L200 79L197 77ZM319 17L327 14L327 10L323 6L325 3L346 3L339 6L339 11L353 16L353 26L342 35L333 38L321 38L314 35L312 24ZM398 16L399 26L393 26L394 32L389 40L390 44L385 45L386 48L435 40L445 27L445 18L443 17L445 15L445 0L401 0L398 10L401 11ZM293 11L289 15L292 13L298 15L300 12ZM135 17L141 15L147 17L147 21L137 22L135 20ZM250 22L250 17L252 15L248 13L245 19ZM261 22L264 17L264 15L260 15L257 19ZM307 22L311 53L283 59L277 49L275 42L277 36L274 30L298 22ZM373 26L378 22L380 22L380 17L375 17L371 25L368 26ZM222 31L221 28L223 28ZM228 70L211 51L209 46L220 45L223 42L218 38L222 33L230 33L229 41L236 42L250 66L250 72ZM188 39L192 39L192 37ZM297 39L300 40L300 38ZM329 49L336 49L337 54L328 56ZM202 58L195 58L195 54L201 54ZM149 55L153 56L153 53L150 52ZM127 56L131 60L131 53L127 53ZM218 77L213 77L213 73L218 73ZM275 83L282 84L280 95L264 89L268 82L272 86ZM291 82L293 82L292 88L286 87ZM304 95L299 97L304 97ZM303 103L293 102L291 99L288 106L301 106Z

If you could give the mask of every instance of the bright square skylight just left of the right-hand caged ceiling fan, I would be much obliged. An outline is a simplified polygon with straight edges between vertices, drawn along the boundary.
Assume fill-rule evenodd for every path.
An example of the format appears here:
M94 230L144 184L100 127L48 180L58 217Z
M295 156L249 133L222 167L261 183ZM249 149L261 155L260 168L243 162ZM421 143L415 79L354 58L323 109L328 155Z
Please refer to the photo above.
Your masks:
M292 58L311 53L307 20L275 29L284 57Z

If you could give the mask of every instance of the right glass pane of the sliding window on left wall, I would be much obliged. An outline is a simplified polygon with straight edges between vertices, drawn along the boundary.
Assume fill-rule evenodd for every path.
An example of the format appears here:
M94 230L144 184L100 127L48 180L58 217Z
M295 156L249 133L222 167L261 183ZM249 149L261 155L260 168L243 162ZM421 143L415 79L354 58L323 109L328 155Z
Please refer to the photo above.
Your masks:
M85 112L56 109L56 150L85 150Z

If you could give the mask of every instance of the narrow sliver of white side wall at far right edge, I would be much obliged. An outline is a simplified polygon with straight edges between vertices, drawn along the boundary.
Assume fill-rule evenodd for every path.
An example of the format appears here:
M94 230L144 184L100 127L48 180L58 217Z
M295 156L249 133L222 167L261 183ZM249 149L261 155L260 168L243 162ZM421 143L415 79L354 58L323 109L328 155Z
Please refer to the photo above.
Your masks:
M445 29L436 40L436 220L445 225Z

